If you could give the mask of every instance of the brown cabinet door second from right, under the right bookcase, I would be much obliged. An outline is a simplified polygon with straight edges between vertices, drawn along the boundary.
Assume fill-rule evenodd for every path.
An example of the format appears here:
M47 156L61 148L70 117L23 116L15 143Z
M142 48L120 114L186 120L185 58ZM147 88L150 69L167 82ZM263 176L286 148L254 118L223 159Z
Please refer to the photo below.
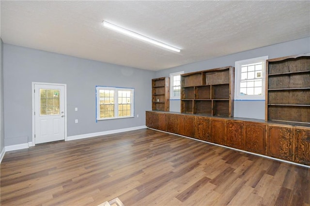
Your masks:
M292 127L267 125L266 136L266 154L268 156L293 161Z

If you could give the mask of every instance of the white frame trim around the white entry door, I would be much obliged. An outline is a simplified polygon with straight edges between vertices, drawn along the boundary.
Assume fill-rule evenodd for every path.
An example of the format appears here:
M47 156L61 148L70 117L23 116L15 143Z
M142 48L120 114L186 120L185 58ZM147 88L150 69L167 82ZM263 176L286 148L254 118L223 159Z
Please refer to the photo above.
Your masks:
M28 145L35 146L35 117L34 117L34 85L53 85L53 86L63 86L64 87L64 141L67 141L67 85L66 84L56 84L56 83L45 83L45 82L32 82L31 83L31 94L32 94L32 142Z

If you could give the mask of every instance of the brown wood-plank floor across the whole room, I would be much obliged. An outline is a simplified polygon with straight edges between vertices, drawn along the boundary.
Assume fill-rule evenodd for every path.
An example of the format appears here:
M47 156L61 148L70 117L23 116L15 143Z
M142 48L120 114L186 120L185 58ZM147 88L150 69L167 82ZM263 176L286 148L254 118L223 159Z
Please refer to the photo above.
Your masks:
M310 206L310 169L142 129L6 152L1 206Z

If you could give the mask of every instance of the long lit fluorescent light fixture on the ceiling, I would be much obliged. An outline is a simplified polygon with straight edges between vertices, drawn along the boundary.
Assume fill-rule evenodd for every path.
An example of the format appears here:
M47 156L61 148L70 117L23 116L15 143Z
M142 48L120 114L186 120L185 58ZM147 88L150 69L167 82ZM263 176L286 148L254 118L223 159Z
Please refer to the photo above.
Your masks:
M148 43L151 43L151 44L155 44L157 46L161 46L161 47L166 48L166 49L170 49L170 50L175 51L175 52L180 52L181 51L181 49L175 48L175 47L173 47L171 45L168 45L168 44L164 44L162 42L158 42L158 41L156 41L154 39L151 39L149 37L143 36L143 35L138 34L136 32L124 29L122 27L116 26L116 25L111 24L111 23L106 22L106 21L102 21L102 25L104 27L109 28L109 29L112 29L112 30L115 30L115 31L119 31L119 32L121 32L121 33L123 33L125 35L128 35L128 36L140 39L142 41L145 41L145 42L148 42Z

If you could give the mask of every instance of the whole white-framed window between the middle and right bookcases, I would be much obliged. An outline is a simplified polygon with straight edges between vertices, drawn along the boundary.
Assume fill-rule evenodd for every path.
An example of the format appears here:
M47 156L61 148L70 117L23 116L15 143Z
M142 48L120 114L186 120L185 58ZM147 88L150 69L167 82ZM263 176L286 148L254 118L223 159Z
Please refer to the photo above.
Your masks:
M235 62L235 100L264 100L268 56Z

